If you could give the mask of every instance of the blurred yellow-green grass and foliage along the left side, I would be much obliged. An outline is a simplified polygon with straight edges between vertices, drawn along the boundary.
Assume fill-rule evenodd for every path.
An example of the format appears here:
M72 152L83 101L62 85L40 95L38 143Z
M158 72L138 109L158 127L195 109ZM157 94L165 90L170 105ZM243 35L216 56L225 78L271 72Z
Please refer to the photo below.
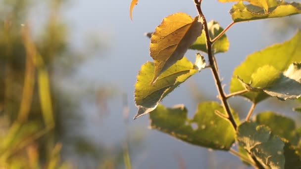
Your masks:
M40 3L48 15L34 32L30 13ZM83 92L94 95L100 111L107 112L112 90L81 85L83 91L68 93L62 87L61 81L87 58L68 43L63 3L0 0L0 169L112 169L122 164L122 146L111 150L81 134Z

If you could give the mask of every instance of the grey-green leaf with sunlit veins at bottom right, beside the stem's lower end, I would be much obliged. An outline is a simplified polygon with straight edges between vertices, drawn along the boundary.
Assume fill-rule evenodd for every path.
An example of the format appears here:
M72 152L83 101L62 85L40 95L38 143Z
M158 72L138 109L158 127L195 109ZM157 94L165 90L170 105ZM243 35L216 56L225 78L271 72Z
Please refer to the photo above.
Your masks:
M245 122L238 127L237 139L265 169L284 169L285 143L267 127Z

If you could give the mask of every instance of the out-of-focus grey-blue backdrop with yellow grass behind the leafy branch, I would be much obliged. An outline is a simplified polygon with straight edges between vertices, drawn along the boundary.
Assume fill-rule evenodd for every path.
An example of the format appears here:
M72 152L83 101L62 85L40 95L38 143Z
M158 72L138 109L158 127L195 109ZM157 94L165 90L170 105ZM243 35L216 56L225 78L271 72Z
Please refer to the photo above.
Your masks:
M151 61L144 33L172 13L197 11L193 0L140 0L131 21L130 2L0 0L0 169L248 168L227 152L149 130L147 116L132 120L136 76ZM224 28L232 5L202 2L207 20ZM226 33L229 51L216 56L226 91L234 67L290 39L300 22L290 16L234 25ZM195 53L186 56L194 61ZM200 101L217 101L216 95L211 72L203 70L162 103L184 103L192 117ZM242 98L230 102L241 118L251 106ZM255 113L301 119L288 102L268 99Z

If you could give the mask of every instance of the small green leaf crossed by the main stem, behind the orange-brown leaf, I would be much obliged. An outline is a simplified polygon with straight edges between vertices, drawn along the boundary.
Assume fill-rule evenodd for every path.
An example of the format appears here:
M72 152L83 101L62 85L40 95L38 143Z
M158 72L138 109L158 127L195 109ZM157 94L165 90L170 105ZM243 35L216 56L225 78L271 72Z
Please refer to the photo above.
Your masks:
M208 31L211 40L217 37L224 30L222 27L220 27L219 23L214 20L208 22L207 25L208 25ZM230 45L229 40L227 36L224 34L213 44L212 51L213 53L226 52L229 49L229 45ZM201 36L198 37L197 41L194 42L189 48L207 52L204 30L202 31Z

